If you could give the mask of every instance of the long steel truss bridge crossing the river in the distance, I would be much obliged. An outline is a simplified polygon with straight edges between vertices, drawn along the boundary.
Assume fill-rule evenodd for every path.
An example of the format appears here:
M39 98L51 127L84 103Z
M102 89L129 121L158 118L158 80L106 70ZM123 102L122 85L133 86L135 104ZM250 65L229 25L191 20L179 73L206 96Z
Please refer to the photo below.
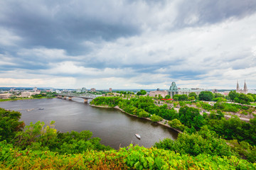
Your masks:
M95 94L75 94L75 93L68 93L68 94L57 94L57 98L63 98L72 101L73 97L76 98L83 98L85 103L88 103L88 99L94 99L102 95L95 95Z

